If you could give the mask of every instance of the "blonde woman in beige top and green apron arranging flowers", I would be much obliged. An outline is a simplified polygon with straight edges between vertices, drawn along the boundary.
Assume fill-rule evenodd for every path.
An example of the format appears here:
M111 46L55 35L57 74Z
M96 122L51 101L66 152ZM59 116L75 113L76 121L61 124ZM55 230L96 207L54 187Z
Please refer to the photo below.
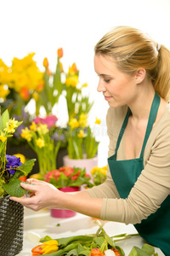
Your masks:
M30 179L25 207L68 208L88 216L134 224L139 235L170 251L170 52L144 32L119 26L95 46L98 90L110 108L105 183L65 194Z

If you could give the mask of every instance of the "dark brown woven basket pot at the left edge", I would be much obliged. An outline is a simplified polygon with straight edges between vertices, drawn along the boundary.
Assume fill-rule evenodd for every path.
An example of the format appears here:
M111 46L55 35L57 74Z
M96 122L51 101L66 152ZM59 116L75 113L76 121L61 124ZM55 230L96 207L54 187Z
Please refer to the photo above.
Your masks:
M23 246L24 207L9 200L9 195L0 198L0 244L1 255L20 253Z

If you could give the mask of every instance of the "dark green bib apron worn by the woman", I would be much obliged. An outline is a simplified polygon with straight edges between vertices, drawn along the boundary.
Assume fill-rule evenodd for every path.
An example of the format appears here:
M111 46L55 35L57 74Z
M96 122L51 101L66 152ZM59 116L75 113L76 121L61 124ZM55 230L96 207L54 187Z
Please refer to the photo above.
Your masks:
M108 158L111 177L116 184L116 189L120 197L123 199L127 198L140 173L144 170L144 148L156 119L159 104L160 97L155 94L150 108L150 117L139 158L133 160L116 160L117 150L127 125L130 109L127 111L127 115L122 124L122 129L116 143L115 154ZM134 227L145 241L155 247L160 247L163 253L170 255L170 196L167 195L166 200L161 203L161 207L155 213L151 213L150 216L147 219L143 219L140 224L134 224Z

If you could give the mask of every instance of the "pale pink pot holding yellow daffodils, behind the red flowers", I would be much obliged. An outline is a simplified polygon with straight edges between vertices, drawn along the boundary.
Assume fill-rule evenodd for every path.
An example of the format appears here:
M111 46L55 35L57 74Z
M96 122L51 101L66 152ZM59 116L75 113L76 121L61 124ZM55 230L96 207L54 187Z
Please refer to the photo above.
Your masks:
M89 175L91 174L90 171L95 167L98 166L98 157L95 156L94 158L84 158L84 159L70 159L68 155L65 155L63 158L64 166L70 167L79 167L79 168L86 168L86 173Z

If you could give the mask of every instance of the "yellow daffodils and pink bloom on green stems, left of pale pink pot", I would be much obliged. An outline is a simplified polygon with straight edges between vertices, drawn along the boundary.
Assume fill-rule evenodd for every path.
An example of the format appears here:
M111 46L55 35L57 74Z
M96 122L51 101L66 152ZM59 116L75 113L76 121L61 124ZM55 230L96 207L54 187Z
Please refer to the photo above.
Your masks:
M28 145L37 154L41 175L56 169L56 158L61 145L59 137L57 141L54 139L56 121L57 118L54 115L45 119L37 118L29 127L21 130L21 137L26 139Z

